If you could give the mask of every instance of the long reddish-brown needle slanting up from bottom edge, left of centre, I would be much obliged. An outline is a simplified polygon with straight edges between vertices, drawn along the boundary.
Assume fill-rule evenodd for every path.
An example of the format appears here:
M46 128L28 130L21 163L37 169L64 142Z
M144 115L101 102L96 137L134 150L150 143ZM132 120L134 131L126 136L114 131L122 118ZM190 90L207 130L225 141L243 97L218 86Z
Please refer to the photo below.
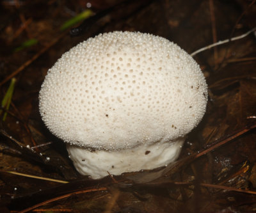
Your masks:
M99 189L84 189L84 190L81 190L81 191L76 191L74 193L64 194L62 196L58 196L58 197L52 198L50 200L45 200L42 203L38 203L36 205L33 205L32 207L29 207L28 209L21 210L18 213L29 212L29 211L31 211L33 209L36 209L37 207L41 207L42 205L46 205L46 204L52 203L53 201L61 200L63 198L68 198L68 197L70 197L70 196L72 196L74 194L92 193L94 191L106 191L106 190L108 190L106 187L100 187Z

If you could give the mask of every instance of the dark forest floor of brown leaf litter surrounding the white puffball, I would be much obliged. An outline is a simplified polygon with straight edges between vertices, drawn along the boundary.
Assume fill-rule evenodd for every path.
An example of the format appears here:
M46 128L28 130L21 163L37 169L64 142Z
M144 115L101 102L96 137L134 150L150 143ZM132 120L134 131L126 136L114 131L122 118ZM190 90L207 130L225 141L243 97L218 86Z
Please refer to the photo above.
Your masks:
M164 169L82 177L38 111L47 70L77 43L141 31L191 54L255 28L255 0L0 4L0 212L256 212L255 29L193 56L209 86L207 111ZM70 36L84 11L83 31Z

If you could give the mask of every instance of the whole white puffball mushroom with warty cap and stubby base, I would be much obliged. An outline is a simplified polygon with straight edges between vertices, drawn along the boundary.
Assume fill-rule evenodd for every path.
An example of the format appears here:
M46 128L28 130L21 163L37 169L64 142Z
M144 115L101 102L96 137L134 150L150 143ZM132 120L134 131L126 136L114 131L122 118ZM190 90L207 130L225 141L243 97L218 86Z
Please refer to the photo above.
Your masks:
M79 43L49 69L40 114L92 178L151 170L177 159L205 113L207 84L178 45L115 31Z

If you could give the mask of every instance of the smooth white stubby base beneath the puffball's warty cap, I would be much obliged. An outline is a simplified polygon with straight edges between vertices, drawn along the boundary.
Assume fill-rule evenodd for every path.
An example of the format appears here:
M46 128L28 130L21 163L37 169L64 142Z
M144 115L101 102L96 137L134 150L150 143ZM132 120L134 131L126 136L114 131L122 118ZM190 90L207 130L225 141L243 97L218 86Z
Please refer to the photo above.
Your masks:
M86 148L67 145L70 159L81 175L90 175L93 179L108 175L121 175L125 172L152 170L167 166L180 154L184 138L169 143L137 146L131 149L90 151Z

